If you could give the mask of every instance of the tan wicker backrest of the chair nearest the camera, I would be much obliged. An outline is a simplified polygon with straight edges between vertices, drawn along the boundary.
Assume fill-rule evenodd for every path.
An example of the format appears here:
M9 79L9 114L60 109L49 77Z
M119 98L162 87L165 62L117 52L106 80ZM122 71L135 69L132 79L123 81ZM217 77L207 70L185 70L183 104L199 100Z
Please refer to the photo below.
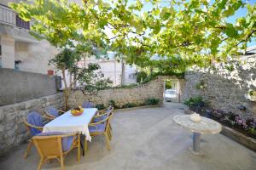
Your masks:
M61 156L72 149L74 138L74 134L51 132L38 133L32 140L41 156Z

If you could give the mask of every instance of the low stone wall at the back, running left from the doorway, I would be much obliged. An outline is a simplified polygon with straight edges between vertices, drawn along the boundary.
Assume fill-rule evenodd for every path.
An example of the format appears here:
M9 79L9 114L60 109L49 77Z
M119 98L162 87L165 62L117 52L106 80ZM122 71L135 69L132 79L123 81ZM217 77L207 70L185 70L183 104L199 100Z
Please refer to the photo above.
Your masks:
M69 107L82 105L83 101L91 101L95 104L109 105L109 100L113 99L118 106L127 103L141 105L148 98L160 99L163 101L164 79L167 77L156 77L153 81L132 88L110 88L100 90L98 94L83 94L81 90L74 91L69 99ZM170 78L170 77L168 77ZM177 79L176 77L171 77Z

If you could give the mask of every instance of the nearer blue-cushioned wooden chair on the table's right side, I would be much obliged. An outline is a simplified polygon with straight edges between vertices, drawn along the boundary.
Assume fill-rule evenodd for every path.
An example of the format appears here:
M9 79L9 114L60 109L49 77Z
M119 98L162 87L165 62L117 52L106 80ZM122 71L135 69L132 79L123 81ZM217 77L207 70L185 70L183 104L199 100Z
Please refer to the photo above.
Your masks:
M112 133L110 129L110 120L113 117L113 110L110 110L109 115L102 121L93 122L89 124L90 136L103 135L106 139L107 149L110 150L109 141L112 139ZM87 141L84 140L84 150L87 150Z

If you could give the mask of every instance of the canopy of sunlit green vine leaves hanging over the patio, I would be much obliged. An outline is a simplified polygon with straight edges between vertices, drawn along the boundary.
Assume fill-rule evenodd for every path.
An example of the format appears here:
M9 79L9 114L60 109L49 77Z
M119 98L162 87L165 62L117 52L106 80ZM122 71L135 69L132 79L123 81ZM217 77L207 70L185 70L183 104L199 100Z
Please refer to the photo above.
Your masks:
M149 3L149 4L148 4ZM142 68L181 73L192 65L222 62L247 48L256 37L256 4L233 1L34 0L11 3L23 20L34 20L32 36L55 47L79 47L90 53L117 52L118 59ZM152 9L145 9L145 6ZM247 14L235 23L227 19L239 8ZM108 36L106 28L112 33ZM125 41L124 41L125 40ZM152 59L157 55L159 59Z

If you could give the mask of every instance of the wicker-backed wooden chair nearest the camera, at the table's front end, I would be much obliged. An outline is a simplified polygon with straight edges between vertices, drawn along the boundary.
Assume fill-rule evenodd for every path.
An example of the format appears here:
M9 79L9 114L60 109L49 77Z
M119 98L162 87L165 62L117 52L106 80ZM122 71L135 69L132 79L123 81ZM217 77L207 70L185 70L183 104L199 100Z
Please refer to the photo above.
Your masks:
M77 160L80 161L80 135L79 133L58 134L58 133L39 133L32 138L38 154L41 159L38 164L38 170L41 169L45 161L57 159L61 163L61 169L64 169L64 157L73 150L78 149ZM56 135L55 135L56 134Z

